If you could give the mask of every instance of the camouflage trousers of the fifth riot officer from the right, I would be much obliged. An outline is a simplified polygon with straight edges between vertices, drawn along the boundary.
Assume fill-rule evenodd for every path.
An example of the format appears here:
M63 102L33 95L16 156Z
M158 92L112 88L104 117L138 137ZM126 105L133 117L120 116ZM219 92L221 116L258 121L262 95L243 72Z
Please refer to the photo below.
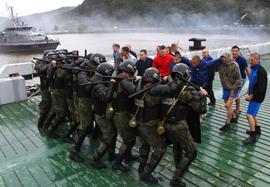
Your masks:
M81 122L77 128L77 133L74 142L71 145L72 152L79 152L81 145L88 133L93 131L94 112L92 111L92 100L88 97L79 98L79 112Z

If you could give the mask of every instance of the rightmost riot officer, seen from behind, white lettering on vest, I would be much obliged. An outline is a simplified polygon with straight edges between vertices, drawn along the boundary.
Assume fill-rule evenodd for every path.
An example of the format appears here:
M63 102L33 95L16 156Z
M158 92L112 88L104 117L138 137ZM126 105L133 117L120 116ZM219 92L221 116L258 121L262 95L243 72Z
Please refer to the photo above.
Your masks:
M172 69L171 76L177 84L178 91L162 100L162 118L166 116L173 101L178 98L175 106L165 118L164 127L166 138L174 145L175 159L177 158L177 151L182 151L182 149L185 151L185 156L177 163L170 186L185 187L186 184L181 181L181 177L197 156L196 142L192 139L186 122L188 107L190 104L199 114L205 114L207 112L206 91L201 88L198 92L194 87L187 86L185 80L190 79L190 70L185 64L180 63L175 65ZM176 148L178 145L181 146L180 149Z

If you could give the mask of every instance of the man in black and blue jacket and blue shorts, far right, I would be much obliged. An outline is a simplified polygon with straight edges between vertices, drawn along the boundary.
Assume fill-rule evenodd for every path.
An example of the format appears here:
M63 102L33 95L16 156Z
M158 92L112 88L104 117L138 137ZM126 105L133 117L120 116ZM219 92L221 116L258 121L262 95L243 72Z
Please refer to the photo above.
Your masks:
M245 97L246 101L249 101L248 108L246 111L246 117L249 123L250 130L246 133L250 134L249 137L242 142L244 144L250 144L256 142L256 134L261 134L261 127L258 124L257 113L261 106L261 103L265 99L267 90L267 72L260 63L260 55L253 53L249 57L250 79L248 96Z

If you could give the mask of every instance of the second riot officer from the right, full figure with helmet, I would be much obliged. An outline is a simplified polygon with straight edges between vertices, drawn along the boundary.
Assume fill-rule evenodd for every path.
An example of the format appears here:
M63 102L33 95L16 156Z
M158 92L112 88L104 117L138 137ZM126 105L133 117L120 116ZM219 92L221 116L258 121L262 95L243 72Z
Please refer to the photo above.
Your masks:
M166 79L167 77L164 77L163 81L166 82ZM156 68L146 69L142 77L144 88L152 86L160 80L161 74ZM157 133L157 124L161 117L161 101L162 98L174 93L176 89L177 86L171 78L168 84L156 85L144 94L138 94L135 97L135 110L138 109L135 118L138 123L139 140L142 143L139 148L138 172L142 173L140 175L142 181L158 182L158 178L152 176L151 173L160 163L167 148L163 135ZM154 152L148 158L150 147L154 149Z

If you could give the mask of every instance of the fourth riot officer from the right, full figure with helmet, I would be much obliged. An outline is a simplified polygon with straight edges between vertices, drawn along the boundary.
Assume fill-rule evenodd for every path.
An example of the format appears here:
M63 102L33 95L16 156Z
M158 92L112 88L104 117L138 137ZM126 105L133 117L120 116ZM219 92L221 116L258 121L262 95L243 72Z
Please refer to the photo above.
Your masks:
M112 72L112 65L108 63L102 63L98 66L96 74L103 77L111 76ZM102 81L108 81L108 78L103 78ZM94 106L95 118L103 136L99 148L90 161L90 165L96 168L106 167L106 164L101 163L100 159L105 155L107 151L109 162L115 160L116 158L114 151L117 139L117 130L113 125L112 119L106 118L106 108L108 102L112 100L114 84L115 80L113 79L109 83L96 84L92 91L92 103Z

